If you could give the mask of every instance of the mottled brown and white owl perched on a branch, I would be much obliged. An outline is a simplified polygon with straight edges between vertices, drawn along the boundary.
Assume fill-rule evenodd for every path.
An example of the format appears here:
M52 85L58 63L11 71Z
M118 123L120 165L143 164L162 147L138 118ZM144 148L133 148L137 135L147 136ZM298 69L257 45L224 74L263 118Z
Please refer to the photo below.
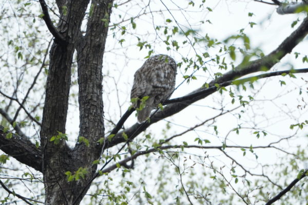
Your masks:
M132 106L137 109L138 122L144 122L175 89L176 61L168 55L154 55L148 58L134 74L130 93Z

